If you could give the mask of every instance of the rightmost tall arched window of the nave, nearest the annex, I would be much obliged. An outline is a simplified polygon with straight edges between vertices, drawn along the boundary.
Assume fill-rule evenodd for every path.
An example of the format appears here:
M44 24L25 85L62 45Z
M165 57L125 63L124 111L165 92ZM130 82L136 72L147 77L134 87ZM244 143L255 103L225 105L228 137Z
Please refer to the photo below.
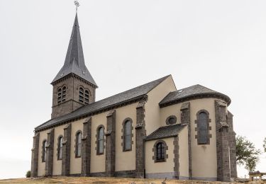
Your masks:
M130 151L132 149L132 120L126 120L123 123L123 151Z

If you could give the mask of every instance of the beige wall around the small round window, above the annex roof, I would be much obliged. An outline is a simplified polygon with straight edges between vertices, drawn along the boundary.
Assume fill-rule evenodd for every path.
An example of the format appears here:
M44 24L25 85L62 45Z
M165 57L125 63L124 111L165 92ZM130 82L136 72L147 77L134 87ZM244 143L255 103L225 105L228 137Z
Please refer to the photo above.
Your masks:
M174 104L160 109L160 126L164 127L166 125L166 119L170 115L177 117L177 124L181 122L181 105L182 103Z

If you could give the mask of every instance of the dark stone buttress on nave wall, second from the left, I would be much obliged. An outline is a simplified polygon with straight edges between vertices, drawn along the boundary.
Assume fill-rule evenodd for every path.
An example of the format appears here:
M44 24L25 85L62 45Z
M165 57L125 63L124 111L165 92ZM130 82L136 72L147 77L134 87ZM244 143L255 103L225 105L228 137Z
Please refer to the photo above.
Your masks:
M52 176L52 163L54 154L55 129L47 133L46 158L45 158L45 176Z

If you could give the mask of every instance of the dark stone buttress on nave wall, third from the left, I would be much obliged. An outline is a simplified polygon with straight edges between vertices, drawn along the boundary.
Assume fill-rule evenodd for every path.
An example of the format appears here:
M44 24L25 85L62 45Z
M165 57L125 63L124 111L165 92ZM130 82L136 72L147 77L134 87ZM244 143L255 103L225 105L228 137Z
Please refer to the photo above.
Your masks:
M71 123L64 128L62 176L70 176Z

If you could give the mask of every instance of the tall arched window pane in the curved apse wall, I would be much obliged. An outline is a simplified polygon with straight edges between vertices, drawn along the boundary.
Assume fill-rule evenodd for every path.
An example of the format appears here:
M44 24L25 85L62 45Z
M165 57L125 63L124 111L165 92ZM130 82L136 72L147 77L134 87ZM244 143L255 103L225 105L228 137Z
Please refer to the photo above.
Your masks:
M205 112L199 113L198 120L198 144L208 143L208 115Z

